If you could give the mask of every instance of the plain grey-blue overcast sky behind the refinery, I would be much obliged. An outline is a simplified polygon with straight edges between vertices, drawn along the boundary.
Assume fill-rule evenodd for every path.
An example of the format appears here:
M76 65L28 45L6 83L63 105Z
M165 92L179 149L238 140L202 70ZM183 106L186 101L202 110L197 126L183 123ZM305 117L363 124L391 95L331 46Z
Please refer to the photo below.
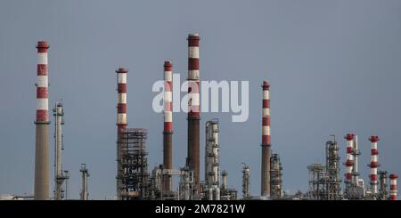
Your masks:
M282 157L284 190L307 190L307 165L324 161L332 133L341 162L344 134L359 135L365 181L371 134L381 138L381 168L401 174L400 20L399 0L1 1L0 193L33 192L38 40L50 44L50 107L64 102L70 198L78 198L81 163L91 173L90 198L115 196L120 66L129 69L128 125L149 130L149 170L161 163L163 121L151 109L151 85L166 60L186 78L189 33L201 35L202 80L250 81L247 122L201 114L201 175L204 124L219 117L229 186L241 193L245 162L251 194L260 194L263 79L271 84L272 148ZM184 166L185 118L174 114L175 167Z

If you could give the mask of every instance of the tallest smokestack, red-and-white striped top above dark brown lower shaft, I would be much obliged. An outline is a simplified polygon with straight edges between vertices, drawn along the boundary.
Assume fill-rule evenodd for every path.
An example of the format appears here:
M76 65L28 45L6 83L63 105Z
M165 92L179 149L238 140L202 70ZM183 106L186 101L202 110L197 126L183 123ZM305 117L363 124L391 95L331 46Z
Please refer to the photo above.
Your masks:
M194 190L200 186L200 77L198 34L188 35L188 157L187 165L194 171Z

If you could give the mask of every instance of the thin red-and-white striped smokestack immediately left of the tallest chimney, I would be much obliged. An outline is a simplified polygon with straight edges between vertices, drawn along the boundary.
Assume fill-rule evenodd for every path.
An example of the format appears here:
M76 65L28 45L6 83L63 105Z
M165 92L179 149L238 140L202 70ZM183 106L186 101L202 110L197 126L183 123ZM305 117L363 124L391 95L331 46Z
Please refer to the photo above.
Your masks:
M171 61L164 62L164 131L163 131L163 168L173 169L173 104L172 104ZM171 175L164 175L163 190L172 190Z

